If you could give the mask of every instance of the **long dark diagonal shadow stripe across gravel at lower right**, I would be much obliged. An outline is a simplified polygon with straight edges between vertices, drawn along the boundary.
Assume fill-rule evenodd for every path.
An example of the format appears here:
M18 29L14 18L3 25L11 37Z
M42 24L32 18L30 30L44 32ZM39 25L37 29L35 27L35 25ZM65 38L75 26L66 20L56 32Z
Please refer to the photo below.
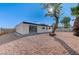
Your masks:
M54 37L56 41L58 41L71 55L79 55L76 51L74 51L71 47L69 47L64 41L61 39Z

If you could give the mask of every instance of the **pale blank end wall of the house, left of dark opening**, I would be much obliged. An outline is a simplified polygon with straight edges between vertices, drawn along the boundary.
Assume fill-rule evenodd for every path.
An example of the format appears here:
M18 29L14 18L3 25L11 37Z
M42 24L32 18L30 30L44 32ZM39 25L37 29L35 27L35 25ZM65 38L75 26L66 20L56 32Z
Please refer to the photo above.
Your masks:
M16 32L20 33L20 34L29 34L29 25L28 24L19 24L16 27Z

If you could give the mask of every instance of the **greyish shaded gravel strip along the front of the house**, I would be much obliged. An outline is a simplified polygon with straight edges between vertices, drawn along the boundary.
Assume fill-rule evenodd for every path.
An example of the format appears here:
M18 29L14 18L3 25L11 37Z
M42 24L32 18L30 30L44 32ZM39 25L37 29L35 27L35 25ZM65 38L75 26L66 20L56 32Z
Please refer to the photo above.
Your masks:
M5 37L5 35L2 35L1 37L3 37L3 38L0 38L0 45L9 43L9 42L12 42L12 41L15 41L15 40L19 40L19 39L21 39L23 37L35 36L35 35L41 35L41 34L45 34L45 33L33 33L33 34L22 35L22 34L19 34L17 32L14 32L14 33L7 34L8 37L5 34L6 37Z

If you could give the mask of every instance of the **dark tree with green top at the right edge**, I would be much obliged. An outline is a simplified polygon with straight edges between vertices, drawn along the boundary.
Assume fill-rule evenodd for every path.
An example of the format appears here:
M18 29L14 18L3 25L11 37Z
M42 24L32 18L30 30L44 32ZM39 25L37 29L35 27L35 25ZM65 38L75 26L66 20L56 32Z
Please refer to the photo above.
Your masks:
M73 32L74 35L79 36L79 4L75 7L72 7L71 12L71 15L76 17L73 25Z

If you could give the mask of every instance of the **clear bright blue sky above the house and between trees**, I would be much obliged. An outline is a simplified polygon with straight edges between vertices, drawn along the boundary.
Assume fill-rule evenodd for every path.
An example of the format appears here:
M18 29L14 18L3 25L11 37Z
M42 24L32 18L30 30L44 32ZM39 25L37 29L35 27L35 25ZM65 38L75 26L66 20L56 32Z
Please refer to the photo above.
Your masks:
M73 19L70 11L73 6L76 6L76 4L63 4L62 13L64 14L61 18L70 16ZM40 3L0 3L0 27L13 28L22 21L48 25L54 23L53 18L44 17L45 13L46 11L42 9ZM73 21L71 21L72 24Z

